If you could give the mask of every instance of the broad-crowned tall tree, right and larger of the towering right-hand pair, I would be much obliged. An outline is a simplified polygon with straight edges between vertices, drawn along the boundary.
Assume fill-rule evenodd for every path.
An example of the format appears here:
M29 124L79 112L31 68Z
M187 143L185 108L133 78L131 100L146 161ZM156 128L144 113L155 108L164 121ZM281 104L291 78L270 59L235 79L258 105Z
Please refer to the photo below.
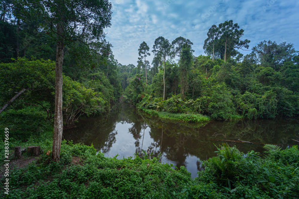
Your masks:
M240 40L240 37L244 35L244 30L239 30L238 24L233 24L233 20L225 21L224 23L219 24L219 43L225 46L224 51L224 61L226 61L227 50L232 51L234 48L248 49L250 42L245 39L244 41ZM243 49L242 49L243 50Z

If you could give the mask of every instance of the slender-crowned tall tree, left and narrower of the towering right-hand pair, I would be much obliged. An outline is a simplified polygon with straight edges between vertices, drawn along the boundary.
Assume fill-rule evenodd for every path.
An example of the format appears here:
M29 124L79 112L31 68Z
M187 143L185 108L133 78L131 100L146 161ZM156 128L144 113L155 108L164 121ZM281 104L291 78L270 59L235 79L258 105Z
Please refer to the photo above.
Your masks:
M208 33L207 33L208 38L205 39L205 43L204 43L204 50L205 53L210 55L212 54L212 47L213 47L213 57L212 57L212 61L214 61L214 48L215 48L215 44L219 38L219 28L216 25L213 25L212 27L210 27Z

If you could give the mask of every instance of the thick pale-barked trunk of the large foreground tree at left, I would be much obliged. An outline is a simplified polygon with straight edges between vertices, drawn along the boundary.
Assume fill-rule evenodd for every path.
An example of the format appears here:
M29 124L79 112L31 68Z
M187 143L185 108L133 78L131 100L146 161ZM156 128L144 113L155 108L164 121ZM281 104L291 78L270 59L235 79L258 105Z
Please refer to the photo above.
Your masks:
M57 35L60 37L56 44L56 63L55 63L55 113L54 113L54 130L53 130L53 146L52 161L59 162L60 147L62 139L62 63L64 39L60 36L63 34L62 25L57 25Z

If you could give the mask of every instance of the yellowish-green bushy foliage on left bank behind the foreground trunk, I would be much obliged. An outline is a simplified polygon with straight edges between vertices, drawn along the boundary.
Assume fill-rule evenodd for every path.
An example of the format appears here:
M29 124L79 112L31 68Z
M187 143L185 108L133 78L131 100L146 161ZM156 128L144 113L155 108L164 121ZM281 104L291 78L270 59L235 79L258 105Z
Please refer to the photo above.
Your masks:
M0 83L4 85L0 89L2 93L0 105L3 106L15 95L15 92L20 92L25 88L27 90L13 102L13 107L22 109L25 106L24 103L38 104L37 106L48 113L47 119L51 120L55 105L55 72L53 69L54 63L50 60L29 61L26 58L19 58L13 63L0 64L0 72L3 74L0 77ZM100 75L102 73L99 72L98 76ZM97 77L97 75L94 76ZM95 85L98 88L83 87L79 82L63 75L63 114L66 124L72 124L81 114L99 114L110 109L113 88L106 78L91 80L85 85L88 87ZM25 111L20 112L20 114L23 113L26 115Z

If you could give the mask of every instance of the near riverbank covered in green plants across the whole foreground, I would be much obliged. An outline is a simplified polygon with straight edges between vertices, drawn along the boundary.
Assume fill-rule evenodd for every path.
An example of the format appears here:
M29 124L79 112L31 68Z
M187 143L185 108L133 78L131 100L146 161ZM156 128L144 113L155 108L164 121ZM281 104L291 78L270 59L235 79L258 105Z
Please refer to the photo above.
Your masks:
M299 198L297 147L246 155L226 144L203 161L205 170L192 179L181 166L148 159L147 155L117 159L96 153L93 145L62 141L60 163L51 162L51 132L14 146L41 146L42 154L23 167L10 167L7 198ZM2 153L1 153L2 155ZM133 156L133 154L132 154ZM10 161L13 163L13 150ZM24 161L33 158L23 154ZM22 161L22 160L21 160ZM3 174L3 166L1 167ZM2 175L3 176L3 175ZM4 178L1 179L4 183Z

